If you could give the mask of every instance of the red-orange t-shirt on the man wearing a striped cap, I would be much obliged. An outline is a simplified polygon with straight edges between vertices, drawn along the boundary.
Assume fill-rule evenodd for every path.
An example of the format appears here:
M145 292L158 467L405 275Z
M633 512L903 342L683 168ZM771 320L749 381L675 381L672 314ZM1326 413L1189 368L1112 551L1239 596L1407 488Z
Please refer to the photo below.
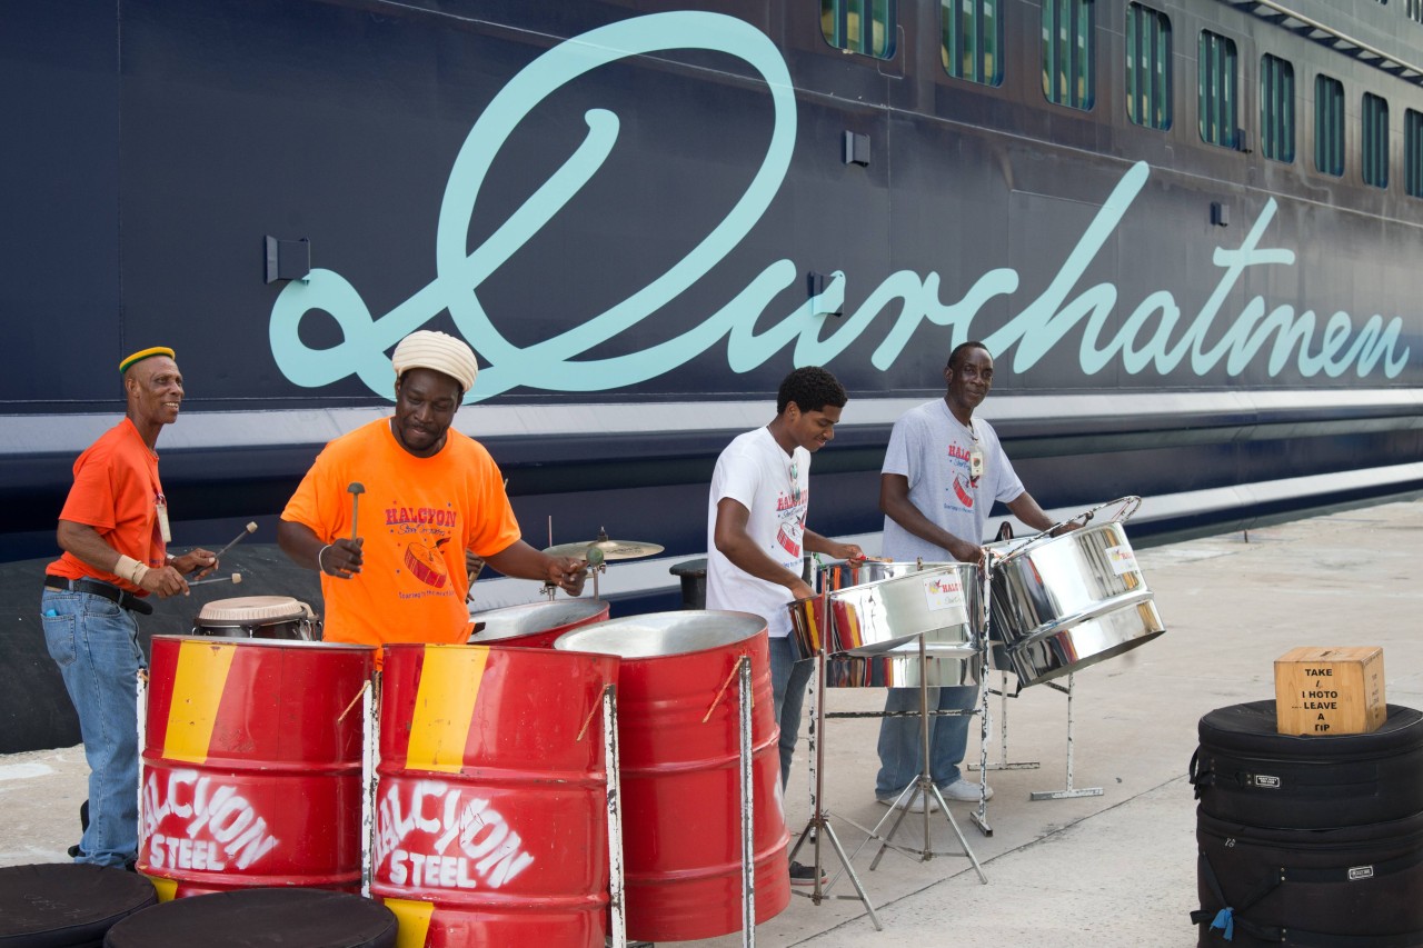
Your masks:
M134 423L124 418L74 461L74 485L60 520L98 531L110 547L149 567L162 567L166 545L158 530L158 455L148 450ZM97 569L65 552L46 569L68 579L101 579L148 595L127 579Z

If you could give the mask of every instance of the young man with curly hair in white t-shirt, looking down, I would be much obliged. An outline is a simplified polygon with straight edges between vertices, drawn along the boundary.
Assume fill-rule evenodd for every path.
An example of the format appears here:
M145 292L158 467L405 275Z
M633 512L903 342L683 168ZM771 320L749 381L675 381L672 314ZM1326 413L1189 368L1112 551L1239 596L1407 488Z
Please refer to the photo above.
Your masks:
M803 557L821 552L862 559L855 544L827 539L805 528L810 507L810 455L835 437L848 396L824 369L797 369L781 381L776 417L764 428L737 436L716 463L707 505L707 608L754 612L770 632L771 686L781 727L781 786L790 776L801 706L814 662L800 660L790 638L787 605L813 594ZM803 880L800 875L804 875ZM808 867L791 865L793 881L814 881Z

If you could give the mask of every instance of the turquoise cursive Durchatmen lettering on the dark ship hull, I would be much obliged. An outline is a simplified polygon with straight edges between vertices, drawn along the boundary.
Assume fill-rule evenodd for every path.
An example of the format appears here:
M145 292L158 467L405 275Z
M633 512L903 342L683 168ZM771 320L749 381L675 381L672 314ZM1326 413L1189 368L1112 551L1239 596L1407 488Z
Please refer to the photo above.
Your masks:
M478 289L593 179L618 141L619 118L609 110L589 110L585 114L588 135L582 144L508 221L470 252L468 225L495 157L532 108L562 85L629 56L677 48L736 56L766 81L773 118L756 177L720 223L647 286L551 339L527 347L512 344L485 312ZM887 372L925 323L949 330L946 342L935 342L936 347L946 349L973 336L973 319L995 297L1012 297L1017 292L1019 272L999 268L982 275L959 299L945 303L938 273L921 276L899 270L874 288L847 317L827 320L821 313L842 307L850 282L848 275L837 270L820 296L768 322L761 317L771 302L803 279L794 260L778 259L680 336L616 357L578 360L666 310L750 233L785 179L795 131L795 98L784 60L770 38L734 17L694 11L649 14L561 43L501 88L470 130L440 208L437 278L379 319L371 316L356 288L333 270L317 269L307 282L289 283L277 296L269 325L277 367L289 380L306 387L332 384L354 373L371 391L391 397L394 379L384 353L403 336L448 310L488 364L467 401L517 386L548 391L615 390L672 372L721 340L726 340L727 367L736 373L764 364L787 346L794 346L795 364L827 364L882 316L891 322L871 354L871 364ZM1128 168L1047 288L986 336L995 353L1012 352L1016 372L1032 369L1079 327L1077 362L1089 376L1117 362L1130 374L1154 369L1165 376L1184 364L1194 374L1205 376L1224 363L1229 376L1239 376L1264 353L1268 353L1271 377L1291 363L1303 377L1339 377L1350 369L1362 377L1380 364L1390 379L1403 372L1410 349L1400 343L1402 319L1397 316L1385 320L1373 315L1356 330L1349 313L1336 312L1321 329L1312 310L1296 313L1289 305L1271 307L1262 296L1252 296L1239 313L1222 313L1251 268L1295 265L1294 251L1261 246L1276 214L1274 199L1265 202L1239 248L1215 249L1212 262L1221 270L1220 280L1190 323L1183 326L1175 296L1163 289L1148 293L1111 333L1111 319L1120 303L1116 285L1100 282L1079 289L1079 283L1117 233L1148 177L1147 162ZM300 323L313 310L336 319L343 333L339 344L316 350L300 340ZM1222 329L1217 330L1217 323Z

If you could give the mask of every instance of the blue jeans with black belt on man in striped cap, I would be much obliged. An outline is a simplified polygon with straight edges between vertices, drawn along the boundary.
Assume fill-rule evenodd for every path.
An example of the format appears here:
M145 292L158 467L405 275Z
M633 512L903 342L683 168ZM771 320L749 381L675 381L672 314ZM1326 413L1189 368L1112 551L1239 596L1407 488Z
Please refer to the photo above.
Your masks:
M46 589L44 641L80 716L90 766L90 824L75 863L124 865L138 854L138 622L88 592Z

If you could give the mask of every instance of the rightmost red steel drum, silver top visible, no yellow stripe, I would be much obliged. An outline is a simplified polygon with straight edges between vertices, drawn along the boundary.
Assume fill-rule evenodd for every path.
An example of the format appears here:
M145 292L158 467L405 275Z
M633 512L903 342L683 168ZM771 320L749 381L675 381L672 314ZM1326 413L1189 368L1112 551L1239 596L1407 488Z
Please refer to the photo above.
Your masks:
M618 756L628 937L657 942L741 928L736 668L751 656L756 921L781 912L791 900L790 833L766 621L746 612L657 612L575 629L555 648L622 656Z

